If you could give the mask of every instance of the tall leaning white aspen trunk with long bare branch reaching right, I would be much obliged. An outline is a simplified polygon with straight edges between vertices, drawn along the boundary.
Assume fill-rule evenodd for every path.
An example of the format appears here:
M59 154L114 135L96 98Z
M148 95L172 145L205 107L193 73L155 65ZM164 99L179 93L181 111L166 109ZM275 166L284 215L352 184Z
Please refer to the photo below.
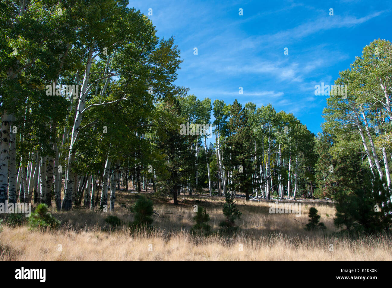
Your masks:
M94 46L94 44L93 44ZM65 193L64 193L64 199L63 199L63 204L62 204L62 209L63 210L69 210L72 207L72 196L73 196L73 181L74 181L74 172L71 169L71 165L73 161L75 160L75 152L73 150L73 145L76 142L76 136L78 135L80 123L82 122L82 111L85 108L85 97L87 94L87 86L88 86L88 81L89 81L89 74L90 74L90 68L92 64L92 56L93 56L93 50L94 48L90 48L88 56L87 56L87 63L86 63L86 70L84 73L84 78L83 78L83 84L82 88L80 90L80 95L79 95L79 103L78 107L76 110L76 116L74 120L74 125L72 128L72 136L71 136L71 143L69 146L69 155L68 155L68 163L67 163L67 179L65 181Z

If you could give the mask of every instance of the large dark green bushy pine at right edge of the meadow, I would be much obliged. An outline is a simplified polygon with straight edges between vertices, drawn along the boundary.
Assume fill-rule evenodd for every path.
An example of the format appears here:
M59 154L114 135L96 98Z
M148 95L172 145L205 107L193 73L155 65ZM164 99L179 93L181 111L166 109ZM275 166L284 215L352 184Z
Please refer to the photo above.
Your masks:
M385 179L369 176L361 189L339 191L334 224L349 234L389 232L392 226L391 192Z

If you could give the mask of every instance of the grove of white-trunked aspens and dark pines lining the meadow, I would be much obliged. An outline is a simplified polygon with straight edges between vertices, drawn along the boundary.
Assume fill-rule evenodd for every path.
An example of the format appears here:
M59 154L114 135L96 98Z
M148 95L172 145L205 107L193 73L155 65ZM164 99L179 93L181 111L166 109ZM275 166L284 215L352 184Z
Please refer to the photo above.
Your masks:
M0 203L114 211L116 191L131 185L174 205L203 193L337 200L366 177L390 188L389 41L374 40L339 73L345 94L329 92L315 135L270 104L189 95L174 84L174 37L158 38L127 4L0 4Z

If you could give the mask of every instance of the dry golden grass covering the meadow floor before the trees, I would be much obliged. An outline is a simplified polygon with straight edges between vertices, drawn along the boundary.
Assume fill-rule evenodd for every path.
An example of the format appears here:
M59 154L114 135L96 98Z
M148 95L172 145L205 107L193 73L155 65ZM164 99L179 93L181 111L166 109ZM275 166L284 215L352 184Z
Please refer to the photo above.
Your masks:
M127 207L136 200L135 194L118 191L117 198L113 214L124 222L132 221ZM302 223L307 223L310 205L303 205L302 215L295 217L269 214L266 202L238 199L238 209L243 213L238 233L231 237L192 237L189 229L194 204L207 209L210 224L217 230L223 220L223 198L218 197L181 195L179 206L154 198L154 210L160 216L154 216L156 229L152 232L131 232L126 225L111 230L104 221L109 213L98 210L53 211L63 223L58 230L31 231L28 226L4 225L0 260L392 260L390 236L337 237L335 209L330 205L312 205L327 231L308 232ZM334 251L330 251L330 244Z

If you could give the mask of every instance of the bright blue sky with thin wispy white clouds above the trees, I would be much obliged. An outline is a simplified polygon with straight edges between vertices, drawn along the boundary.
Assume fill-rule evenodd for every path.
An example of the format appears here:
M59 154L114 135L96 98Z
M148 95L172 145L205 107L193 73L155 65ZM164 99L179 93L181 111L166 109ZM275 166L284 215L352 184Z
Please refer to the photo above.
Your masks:
M184 60L176 84L189 94L227 104L271 103L315 134L326 96L315 96L314 86L333 84L374 39L392 41L390 1L143 0L129 6L145 15L151 8L158 37L174 36Z

